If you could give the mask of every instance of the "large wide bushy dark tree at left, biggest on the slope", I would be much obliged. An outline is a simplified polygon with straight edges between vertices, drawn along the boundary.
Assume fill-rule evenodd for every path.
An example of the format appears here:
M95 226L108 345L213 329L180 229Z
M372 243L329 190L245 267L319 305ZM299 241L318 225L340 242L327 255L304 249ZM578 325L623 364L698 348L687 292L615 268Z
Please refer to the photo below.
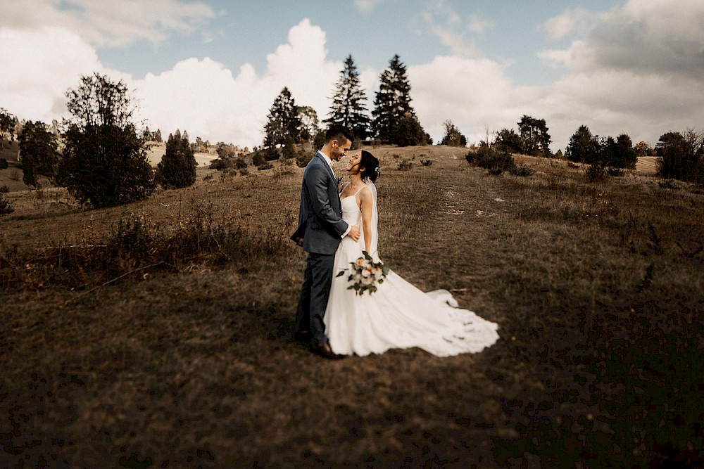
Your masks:
M58 183L80 203L110 207L149 197L154 175L143 136L132 122L134 107L122 81L97 73L69 89L65 150Z

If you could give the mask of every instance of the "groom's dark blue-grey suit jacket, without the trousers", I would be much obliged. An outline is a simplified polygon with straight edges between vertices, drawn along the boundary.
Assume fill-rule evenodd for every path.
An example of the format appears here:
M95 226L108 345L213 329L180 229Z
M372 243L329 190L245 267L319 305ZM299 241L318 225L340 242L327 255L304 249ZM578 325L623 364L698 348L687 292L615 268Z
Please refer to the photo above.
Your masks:
M298 229L291 239L307 252L334 254L347 228L342 219L337 178L325 156L315 153L303 172Z

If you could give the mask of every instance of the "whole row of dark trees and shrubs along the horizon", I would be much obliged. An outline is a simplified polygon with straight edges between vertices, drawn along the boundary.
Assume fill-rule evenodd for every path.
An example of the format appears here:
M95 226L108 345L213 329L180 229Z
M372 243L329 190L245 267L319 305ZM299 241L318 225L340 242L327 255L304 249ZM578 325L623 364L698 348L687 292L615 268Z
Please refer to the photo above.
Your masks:
M406 66L398 55L379 76L379 91L374 108L367 109L367 96L361 87L359 72L352 56L344 61L338 82L334 85L331 107L325 124L342 124L359 140L376 139L380 143L398 146L432 144L411 105L410 81ZM207 148L209 142L200 138L190 143L186 131L178 129L168 136L166 153L156 170L147 160L147 141L161 141L161 130L137 130L134 105L127 86L113 82L107 76L94 73L81 77L76 89L66 92L70 113L59 126L43 122L25 122L0 108L0 138L14 139L18 135L22 154L23 180L37 187L37 176L49 177L54 184L68 188L80 203L108 207L149 197L157 184L165 188L189 186L196 179L194 150ZM261 148L254 148L255 165L265 165L280 156L291 158L301 143L322 146L318 115L313 108L296 105L294 97L284 87L269 110ZM59 130L61 127L61 131ZM441 145L467 145L458 127L447 120ZM18 128L20 131L18 131ZM523 115L517 122L518 131L501 129L494 139L480 142L479 148L503 153L522 153L543 157L562 157L550 150L551 136L544 119ZM299 150L300 151L300 150ZM221 160L241 160L243 154L232 146L218 143ZM591 134L582 125L570 138L565 158L583 162L595 170L617 174L634 167L639 155L657 155L658 174L685 181L704 182L704 133L688 129L684 133L667 132L652 148L641 141L636 146L627 134L615 139ZM235 158L239 157L239 158ZM307 158L299 161L305 165ZM5 162L6 163L6 162ZM2 161L0 161L0 165Z

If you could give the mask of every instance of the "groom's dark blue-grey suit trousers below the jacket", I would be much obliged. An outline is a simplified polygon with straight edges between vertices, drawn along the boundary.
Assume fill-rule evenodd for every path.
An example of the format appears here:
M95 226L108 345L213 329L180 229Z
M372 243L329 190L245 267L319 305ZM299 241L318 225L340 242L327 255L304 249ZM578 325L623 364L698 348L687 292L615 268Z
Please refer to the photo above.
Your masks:
M325 316L327 300L332 285L334 254L316 254L308 252L306 273L303 276L301 295L298 297L296 311L296 330L310 330L313 342L327 342L325 335Z

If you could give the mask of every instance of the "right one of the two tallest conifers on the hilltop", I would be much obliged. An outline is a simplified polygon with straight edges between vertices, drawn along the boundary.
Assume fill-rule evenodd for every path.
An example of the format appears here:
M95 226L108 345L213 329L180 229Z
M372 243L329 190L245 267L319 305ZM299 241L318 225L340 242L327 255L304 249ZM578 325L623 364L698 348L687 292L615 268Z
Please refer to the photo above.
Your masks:
M410 145L426 142L425 131L422 131L415 111L410 105L410 82L406 77L406 66L401 63L398 55L391 58L389 68L379 77L379 91L374 100L375 109L374 131L382 141L399 143L399 139L408 143L408 129L413 127L413 140ZM404 129L400 129L403 126ZM416 130L420 127L422 137L417 138Z

